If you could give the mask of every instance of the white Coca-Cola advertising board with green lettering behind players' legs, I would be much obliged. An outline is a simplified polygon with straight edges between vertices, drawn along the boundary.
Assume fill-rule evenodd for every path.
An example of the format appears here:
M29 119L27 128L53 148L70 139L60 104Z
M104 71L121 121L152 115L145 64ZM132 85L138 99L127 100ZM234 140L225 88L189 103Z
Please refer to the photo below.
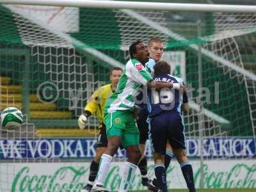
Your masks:
M244 160L207 161L202 166L204 178L201 178L202 170L199 161L192 161L196 188L200 187L201 179L204 180L204 188L256 188L256 164L253 160L243 162ZM223 166L220 167L220 163ZM40 169L36 169L38 166ZM11 192L79 192L88 179L89 166L90 163L80 163L79 166L74 163L68 166L61 165L61 163L40 163L40 165L34 163L24 166L20 164L12 186L10 186ZM111 164L104 183L104 186L110 191L118 191L122 179L122 166L122 163ZM38 170L43 173L38 172ZM179 164L172 161L166 173L168 188L186 188ZM8 175L4 177L8 177ZM148 177L154 177L154 163L152 161L148 162ZM141 175L138 171L132 177L131 190L143 189L145 188L141 185Z

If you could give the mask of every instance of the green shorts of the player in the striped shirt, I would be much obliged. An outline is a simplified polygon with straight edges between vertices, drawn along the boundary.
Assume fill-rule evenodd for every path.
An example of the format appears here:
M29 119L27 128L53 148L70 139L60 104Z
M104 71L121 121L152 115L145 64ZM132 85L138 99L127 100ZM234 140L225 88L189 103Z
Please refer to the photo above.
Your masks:
M139 145L140 134L131 111L115 111L104 115L107 137L122 136L124 148Z

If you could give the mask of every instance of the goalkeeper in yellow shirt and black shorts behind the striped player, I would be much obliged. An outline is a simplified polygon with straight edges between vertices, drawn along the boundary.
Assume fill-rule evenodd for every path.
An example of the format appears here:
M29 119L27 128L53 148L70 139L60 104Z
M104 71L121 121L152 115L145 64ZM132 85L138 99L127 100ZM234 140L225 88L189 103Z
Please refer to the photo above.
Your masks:
M115 92L118 81L122 76L122 72L122 68L119 67L114 67L112 69L111 75L109 76L111 83L101 86L93 93L92 97L88 100L84 108L83 114L80 115L78 119L78 125L80 129L84 129L88 116L92 115L93 113L97 113L97 118L100 121L100 133L96 145L96 154L90 165L88 183L86 186L84 186L82 190L83 192L90 191L92 189L93 182L99 170L100 157L108 146L106 125L103 123L104 106L108 97L113 95Z

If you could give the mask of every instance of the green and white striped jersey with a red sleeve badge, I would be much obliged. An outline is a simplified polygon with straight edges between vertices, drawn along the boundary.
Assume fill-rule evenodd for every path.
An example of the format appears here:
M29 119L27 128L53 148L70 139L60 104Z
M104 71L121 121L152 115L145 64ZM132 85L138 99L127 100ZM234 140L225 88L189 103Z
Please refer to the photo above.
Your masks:
M131 110L134 107L134 97L138 94L141 86L152 80L150 73L136 59L129 60L119 80L115 93L109 97L105 113L118 110Z

